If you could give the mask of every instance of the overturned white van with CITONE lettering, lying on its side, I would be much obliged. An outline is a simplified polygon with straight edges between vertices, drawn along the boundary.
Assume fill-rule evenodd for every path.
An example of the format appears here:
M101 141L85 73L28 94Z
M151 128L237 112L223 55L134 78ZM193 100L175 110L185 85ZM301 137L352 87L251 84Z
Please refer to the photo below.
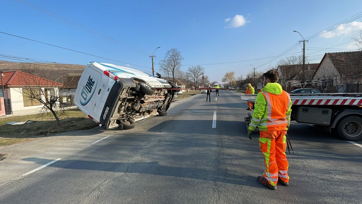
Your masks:
M102 128L132 129L137 120L157 113L166 116L178 91L174 88L174 83L139 70L90 62L79 79L74 103Z

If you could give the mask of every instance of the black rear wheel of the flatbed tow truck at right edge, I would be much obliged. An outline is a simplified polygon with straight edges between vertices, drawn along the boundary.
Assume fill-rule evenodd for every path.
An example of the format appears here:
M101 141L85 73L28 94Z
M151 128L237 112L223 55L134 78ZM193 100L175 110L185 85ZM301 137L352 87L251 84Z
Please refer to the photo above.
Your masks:
M347 141L358 141L362 139L362 118L348 116L338 122L337 132L340 137Z

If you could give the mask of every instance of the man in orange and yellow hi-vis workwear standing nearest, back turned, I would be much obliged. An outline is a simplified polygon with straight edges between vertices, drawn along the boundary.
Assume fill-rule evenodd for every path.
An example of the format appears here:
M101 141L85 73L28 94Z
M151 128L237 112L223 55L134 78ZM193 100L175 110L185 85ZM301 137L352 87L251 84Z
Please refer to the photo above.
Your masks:
M289 164L285 151L292 102L289 93L283 91L277 83L277 70L269 70L263 77L265 87L256 97L248 136L252 139L251 133L256 127L259 128L259 146L264 155L266 170L257 180L271 190L276 190L278 180L283 186L289 186Z

